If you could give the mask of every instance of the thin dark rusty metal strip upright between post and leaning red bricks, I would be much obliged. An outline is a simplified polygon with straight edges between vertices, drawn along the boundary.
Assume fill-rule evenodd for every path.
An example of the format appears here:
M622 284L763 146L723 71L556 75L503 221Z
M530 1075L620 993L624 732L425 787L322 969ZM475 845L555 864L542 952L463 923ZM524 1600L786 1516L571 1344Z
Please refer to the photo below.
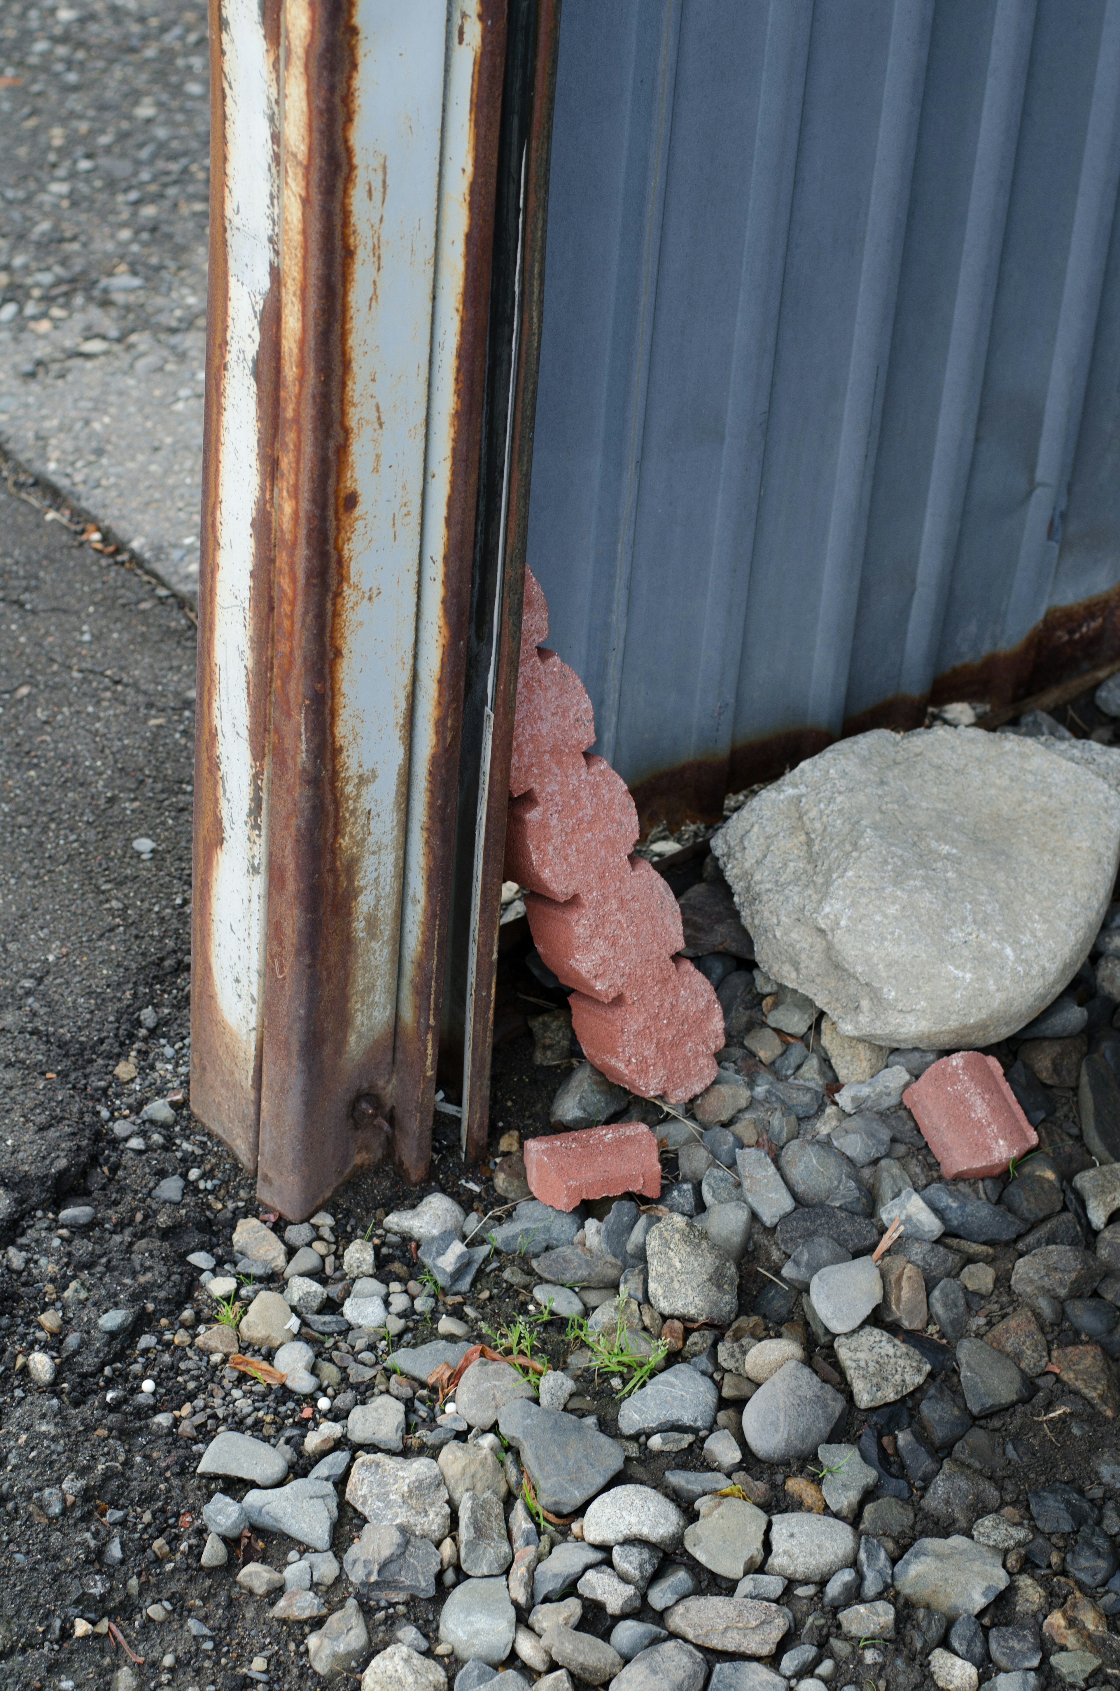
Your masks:
M467 1111L469 1121L467 1145L464 1146L467 1162L475 1162L484 1155L489 1128L494 981L497 971L501 883L506 851L506 808L509 800L509 759L513 754L513 717L518 695L521 595L524 588L530 479L533 468L533 421L536 414L536 375L545 299L548 164L552 149L552 115L557 88L558 46L560 0L538 0L533 103L526 142L524 277L506 516L506 568L504 580L501 582L501 614L497 627L499 649L494 690L494 734L491 742L491 774L482 839L482 862L475 871L480 876L480 901L475 999L470 1020L470 1091L469 1096L464 1097L464 1109Z

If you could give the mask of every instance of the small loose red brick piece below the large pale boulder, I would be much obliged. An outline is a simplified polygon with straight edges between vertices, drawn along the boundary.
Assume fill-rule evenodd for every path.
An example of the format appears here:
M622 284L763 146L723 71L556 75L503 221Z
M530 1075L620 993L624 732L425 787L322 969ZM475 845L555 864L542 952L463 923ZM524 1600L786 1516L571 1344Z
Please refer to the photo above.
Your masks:
M954 1052L907 1087L902 1103L941 1163L946 1180L1007 1174L1012 1157L1039 1143L995 1057Z

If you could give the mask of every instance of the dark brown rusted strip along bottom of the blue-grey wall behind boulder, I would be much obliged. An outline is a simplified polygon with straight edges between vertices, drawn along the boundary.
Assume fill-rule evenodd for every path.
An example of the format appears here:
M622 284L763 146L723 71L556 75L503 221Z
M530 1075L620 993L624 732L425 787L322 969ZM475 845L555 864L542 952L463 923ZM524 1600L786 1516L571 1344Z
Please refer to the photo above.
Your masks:
M726 761L697 759L646 776L631 788L641 832L648 834L658 822L670 830L684 822L719 822L724 793L775 781L837 737L849 739L871 729L905 732L922 725L931 705L958 700L1005 710L1057 681L1073 681L1112 661L1120 661L1120 587L1076 605L1056 605L1018 646L946 670L920 698L895 693L848 717L843 736L827 729L788 729L733 747Z

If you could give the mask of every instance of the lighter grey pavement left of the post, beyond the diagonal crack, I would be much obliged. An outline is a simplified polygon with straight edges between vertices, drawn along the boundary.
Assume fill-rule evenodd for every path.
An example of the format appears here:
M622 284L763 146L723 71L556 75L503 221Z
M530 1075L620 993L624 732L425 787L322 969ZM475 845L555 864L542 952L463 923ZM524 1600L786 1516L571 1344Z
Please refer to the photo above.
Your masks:
M198 583L205 7L0 7L0 445Z

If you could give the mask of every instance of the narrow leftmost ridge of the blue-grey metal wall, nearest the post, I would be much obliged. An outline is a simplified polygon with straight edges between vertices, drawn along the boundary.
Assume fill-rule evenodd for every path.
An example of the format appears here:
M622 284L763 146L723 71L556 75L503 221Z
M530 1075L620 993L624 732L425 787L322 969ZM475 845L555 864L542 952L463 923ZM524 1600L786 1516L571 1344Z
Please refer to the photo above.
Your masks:
M596 717L596 749L607 763L614 759L619 724L619 700L623 693L623 665L626 661L626 626L629 587L634 563L634 528L638 523L638 489L641 484L641 443L646 421L646 396L650 389L650 350L653 343L653 320L656 308L656 279L660 267L662 228L665 220L665 186L668 179L668 149L673 132L673 95L677 86L677 56L680 51L680 10L682 0L667 0L662 14L662 42L658 52L656 79L656 120L653 140L653 171L645 201L643 244L640 259L641 289L638 294L638 311L633 335L633 379L631 397L626 404L628 424L619 431L619 448L628 462L628 473L623 484L621 509L611 509L607 528L616 531L611 558L611 578L607 585L611 616L607 627L607 658L601 678L601 707ZM631 112L634 103L631 101ZM636 125L631 122L631 147L628 149L628 166L634 166ZM645 149L641 149L645 150ZM633 313L633 298L623 298L616 287L612 301L612 320L621 311ZM607 448L609 450L609 448ZM596 517L602 514L597 506ZM599 523L596 523L597 533ZM594 539L592 539L594 550Z

